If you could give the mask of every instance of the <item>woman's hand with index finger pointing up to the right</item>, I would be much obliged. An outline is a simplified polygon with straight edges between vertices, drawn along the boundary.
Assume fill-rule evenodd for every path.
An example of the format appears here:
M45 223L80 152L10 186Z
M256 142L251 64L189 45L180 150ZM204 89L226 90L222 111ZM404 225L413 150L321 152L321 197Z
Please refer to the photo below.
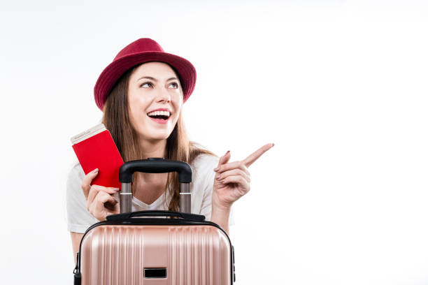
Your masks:
M230 159L230 152L220 157L213 187L213 206L220 209L230 209L231 205L250 191L250 172L248 167L255 162L262 154L273 147L273 143L268 143L250 154L243 161L227 163Z

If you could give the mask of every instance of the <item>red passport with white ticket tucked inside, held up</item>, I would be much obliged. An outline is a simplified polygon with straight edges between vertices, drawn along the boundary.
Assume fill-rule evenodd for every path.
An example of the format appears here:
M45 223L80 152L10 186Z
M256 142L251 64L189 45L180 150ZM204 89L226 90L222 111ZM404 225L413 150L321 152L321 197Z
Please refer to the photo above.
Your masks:
M85 174L99 169L92 185L120 188L119 169L123 159L104 124L73 136L71 143Z

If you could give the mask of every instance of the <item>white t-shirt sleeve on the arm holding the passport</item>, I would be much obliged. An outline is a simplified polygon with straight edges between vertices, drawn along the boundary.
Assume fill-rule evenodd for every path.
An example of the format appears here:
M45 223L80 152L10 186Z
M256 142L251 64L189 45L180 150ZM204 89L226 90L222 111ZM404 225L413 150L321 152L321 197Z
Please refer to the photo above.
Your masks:
M66 182L67 228L74 233L85 233L87 228L99 222L87 210L86 198L82 190L85 177L82 166L76 163L71 168Z

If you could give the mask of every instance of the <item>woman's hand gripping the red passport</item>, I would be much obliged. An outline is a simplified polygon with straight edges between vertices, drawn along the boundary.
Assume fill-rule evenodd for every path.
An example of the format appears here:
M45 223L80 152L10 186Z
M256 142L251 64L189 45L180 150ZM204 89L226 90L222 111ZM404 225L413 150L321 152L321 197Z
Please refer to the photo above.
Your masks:
M120 189L91 185L98 175L98 168L87 173L82 181L82 189L87 201L87 210L99 221L105 221L109 214L119 214L120 204L113 197Z

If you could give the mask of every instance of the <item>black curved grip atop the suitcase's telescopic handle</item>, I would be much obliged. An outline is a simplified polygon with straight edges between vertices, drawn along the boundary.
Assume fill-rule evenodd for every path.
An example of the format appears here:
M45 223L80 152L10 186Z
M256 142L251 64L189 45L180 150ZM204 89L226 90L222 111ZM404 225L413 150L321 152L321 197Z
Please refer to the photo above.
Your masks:
M178 182L192 182L192 168L184 161L173 161L162 159L161 157L150 157L136 161L125 162L119 170L119 181L122 183L131 183L132 175L135 172L142 173L178 173Z

